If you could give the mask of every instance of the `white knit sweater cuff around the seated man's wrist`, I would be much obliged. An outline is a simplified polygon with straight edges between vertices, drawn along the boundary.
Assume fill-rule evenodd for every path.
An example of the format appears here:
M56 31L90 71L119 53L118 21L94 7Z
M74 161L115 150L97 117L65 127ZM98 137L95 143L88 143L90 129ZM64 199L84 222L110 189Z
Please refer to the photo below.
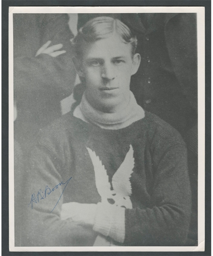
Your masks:
M93 230L120 243L125 238L125 208L98 203Z

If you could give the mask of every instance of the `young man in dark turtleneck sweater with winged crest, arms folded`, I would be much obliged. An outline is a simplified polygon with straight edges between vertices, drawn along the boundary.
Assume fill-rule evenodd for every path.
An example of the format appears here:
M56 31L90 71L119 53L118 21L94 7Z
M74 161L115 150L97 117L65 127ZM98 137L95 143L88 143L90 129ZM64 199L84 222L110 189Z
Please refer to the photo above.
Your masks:
M26 245L185 245L186 148L130 91L141 58L136 37L98 17L74 43L83 95L32 151Z

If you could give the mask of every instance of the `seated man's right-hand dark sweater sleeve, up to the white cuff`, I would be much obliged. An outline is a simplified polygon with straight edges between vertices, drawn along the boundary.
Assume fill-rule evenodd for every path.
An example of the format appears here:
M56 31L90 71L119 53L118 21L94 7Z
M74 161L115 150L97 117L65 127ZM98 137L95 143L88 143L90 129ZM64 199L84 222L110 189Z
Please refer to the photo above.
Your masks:
M184 144L169 147L167 141L167 150L156 144L152 207L125 210L127 246L183 246L187 239L191 214L187 151Z

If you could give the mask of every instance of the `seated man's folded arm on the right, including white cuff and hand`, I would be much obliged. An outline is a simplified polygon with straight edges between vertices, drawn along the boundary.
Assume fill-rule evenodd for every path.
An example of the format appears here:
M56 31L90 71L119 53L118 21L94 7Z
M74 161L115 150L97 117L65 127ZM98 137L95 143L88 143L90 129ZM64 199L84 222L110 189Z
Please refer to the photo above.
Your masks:
M127 246L184 245L190 222L187 152L175 145L155 170L153 207L125 209L111 204L62 205L62 218L89 225L96 232ZM75 213L71 210L75 208Z

